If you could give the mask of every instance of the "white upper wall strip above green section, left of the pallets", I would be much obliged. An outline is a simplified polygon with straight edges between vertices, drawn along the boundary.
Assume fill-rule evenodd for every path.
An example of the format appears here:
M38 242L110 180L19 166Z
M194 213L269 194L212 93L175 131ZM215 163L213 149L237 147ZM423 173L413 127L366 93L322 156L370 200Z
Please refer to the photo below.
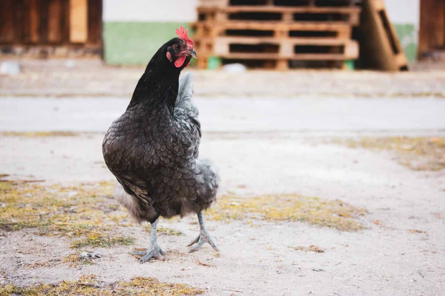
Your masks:
M198 0L104 0L104 21L191 22Z

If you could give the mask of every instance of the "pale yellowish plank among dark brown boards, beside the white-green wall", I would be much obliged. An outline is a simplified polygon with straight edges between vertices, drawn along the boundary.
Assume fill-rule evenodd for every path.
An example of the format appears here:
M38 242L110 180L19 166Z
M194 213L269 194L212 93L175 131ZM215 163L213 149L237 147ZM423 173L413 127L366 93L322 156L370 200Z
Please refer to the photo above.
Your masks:
M88 39L87 0L69 0L69 41L85 43Z

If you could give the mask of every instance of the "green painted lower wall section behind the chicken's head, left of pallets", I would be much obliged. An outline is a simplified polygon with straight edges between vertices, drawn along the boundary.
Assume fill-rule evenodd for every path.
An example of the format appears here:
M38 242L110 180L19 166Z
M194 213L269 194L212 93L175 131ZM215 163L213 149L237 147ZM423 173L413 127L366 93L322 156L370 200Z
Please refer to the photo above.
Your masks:
M176 28L182 24L105 22L105 62L111 65L146 65L162 44L176 37Z

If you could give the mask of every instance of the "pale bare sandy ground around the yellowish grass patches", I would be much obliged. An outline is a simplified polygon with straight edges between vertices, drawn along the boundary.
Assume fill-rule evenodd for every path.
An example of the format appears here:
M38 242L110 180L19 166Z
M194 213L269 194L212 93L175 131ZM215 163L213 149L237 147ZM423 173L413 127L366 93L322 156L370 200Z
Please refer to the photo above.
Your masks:
M85 88L71 86L73 97L63 85L49 87L55 77L45 79L29 69L21 74L23 80L0 77L0 131L78 134L0 136L0 174L18 179L32 175L26 178L43 179L44 184L113 181L102 159L101 142L113 118L125 109L141 69L122 69L134 72L126 78L133 86L122 86L113 94L91 87L96 76L88 71ZM27 75L33 73L45 87L29 82ZM214 257L209 245L187 252L186 244L196 235L195 217L161 219L160 226L184 233L158 237L167 250L166 261L140 265L128 254L128 246L99 248L103 258L98 264L79 268L62 263L24 268L18 262L33 261L35 256L66 256L71 252L69 242L38 237L28 229L3 232L0 285L56 283L93 273L105 282L153 276L215 296L444 295L444 170L413 171L400 165L392 152L352 149L331 139L444 137L445 75L254 71L235 76L195 73L204 132L200 156L212 158L220 167L223 192L245 198L298 193L340 199L367 210L356 218L365 229L342 232L291 221L256 221L253 227L246 219L207 219L221 249L221 256ZM104 83L119 85L120 77ZM25 82L29 84L12 87ZM30 96L34 93L37 96ZM125 231L137 238L138 246L148 244L140 227ZM309 245L324 253L289 248Z

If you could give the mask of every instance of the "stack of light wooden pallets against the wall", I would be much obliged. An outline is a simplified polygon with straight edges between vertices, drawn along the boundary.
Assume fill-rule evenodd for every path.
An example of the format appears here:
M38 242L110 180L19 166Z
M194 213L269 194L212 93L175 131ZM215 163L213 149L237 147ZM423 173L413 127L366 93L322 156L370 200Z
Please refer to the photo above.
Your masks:
M193 24L198 67L210 56L286 70L295 61L346 61L359 55L354 0L202 0Z

